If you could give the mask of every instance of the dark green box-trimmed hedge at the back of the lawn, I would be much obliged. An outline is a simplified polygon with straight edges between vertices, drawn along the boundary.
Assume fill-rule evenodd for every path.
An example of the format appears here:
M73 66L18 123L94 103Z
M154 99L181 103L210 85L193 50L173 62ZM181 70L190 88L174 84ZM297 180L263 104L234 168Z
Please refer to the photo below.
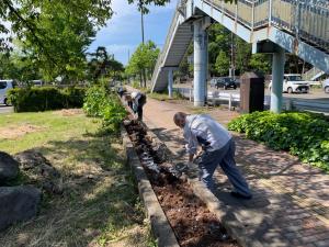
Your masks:
M8 98L15 112L39 112L82 108L84 94L84 88L35 87L12 89L9 91Z

